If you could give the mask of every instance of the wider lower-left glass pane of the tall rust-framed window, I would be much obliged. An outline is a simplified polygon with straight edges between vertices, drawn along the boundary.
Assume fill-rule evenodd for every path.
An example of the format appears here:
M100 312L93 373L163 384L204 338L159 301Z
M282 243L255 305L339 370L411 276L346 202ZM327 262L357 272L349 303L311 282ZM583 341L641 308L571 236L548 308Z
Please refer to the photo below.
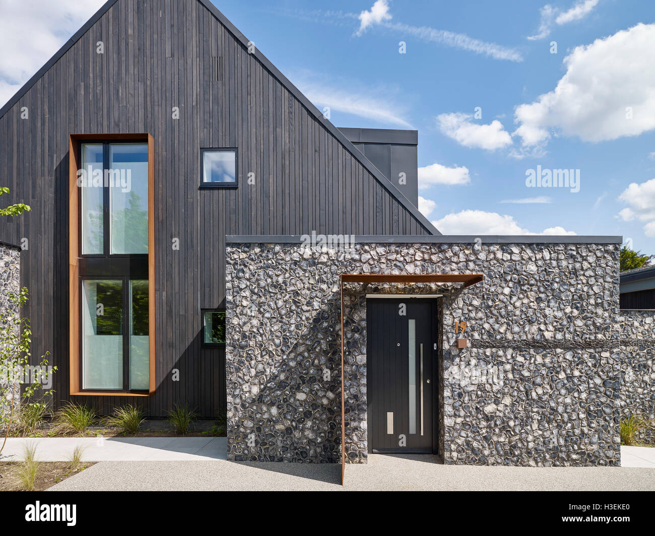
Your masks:
M83 389L122 389L122 281L84 280Z

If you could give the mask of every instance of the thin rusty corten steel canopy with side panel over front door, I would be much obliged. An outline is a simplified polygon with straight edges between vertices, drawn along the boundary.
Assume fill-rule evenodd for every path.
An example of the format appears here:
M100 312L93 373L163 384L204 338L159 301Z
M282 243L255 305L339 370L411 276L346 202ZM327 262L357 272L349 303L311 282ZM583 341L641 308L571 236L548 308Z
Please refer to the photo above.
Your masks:
M481 274L341 274L341 484L346 469L346 412L343 367L343 284L344 283L464 283L464 288L484 280ZM421 294L417 294L421 297Z

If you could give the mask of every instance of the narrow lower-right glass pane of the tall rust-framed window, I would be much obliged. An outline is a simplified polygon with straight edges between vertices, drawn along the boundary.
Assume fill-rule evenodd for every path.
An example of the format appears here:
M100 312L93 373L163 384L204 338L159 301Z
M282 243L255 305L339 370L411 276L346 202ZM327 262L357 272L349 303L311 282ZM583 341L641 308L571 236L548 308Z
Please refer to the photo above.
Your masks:
M130 389L136 391L150 385L148 313L148 282L130 281Z

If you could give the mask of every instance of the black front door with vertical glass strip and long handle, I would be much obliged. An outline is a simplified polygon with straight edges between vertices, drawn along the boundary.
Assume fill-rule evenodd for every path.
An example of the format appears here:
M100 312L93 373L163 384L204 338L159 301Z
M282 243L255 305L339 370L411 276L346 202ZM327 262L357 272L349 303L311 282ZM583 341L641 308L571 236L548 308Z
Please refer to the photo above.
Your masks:
M432 453L436 300L369 298L366 311L369 451Z

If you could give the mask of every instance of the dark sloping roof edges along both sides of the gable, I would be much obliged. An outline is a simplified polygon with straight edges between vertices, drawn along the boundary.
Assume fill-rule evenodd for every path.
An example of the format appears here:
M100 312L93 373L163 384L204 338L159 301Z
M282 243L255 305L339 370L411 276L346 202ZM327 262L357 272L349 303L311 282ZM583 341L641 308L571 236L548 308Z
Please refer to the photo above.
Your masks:
M16 92L16 94L5 104L1 109L0 109L0 119L11 109L25 94L28 92L28 90L37 83L37 81L52 67L56 62L64 56L64 54L71 48L77 41L90 29L100 18L119 0L108 0L99 10L92 16L86 24L82 28L80 28L73 37L71 37L62 48L58 50L52 58L45 64L45 66L41 67L37 73L31 77L28 82ZM246 48L248 48L248 43L250 42L249 39L246 39L246 37L232 24L223 13L221 13L217 7L215 7L214 4L212 4L211 1L209 0L196 0L200 2L206 9L208 9L218 20L227 28L227 31L229 31L235 39L238 39L242 43L242 45ZM389 193L394 196L400 204L411 214L414 216L419 223L425 229L428 231L428 233L431 233L432 235L441 235L441 233L430 223L430 220L423 216L419 209L412 204L405 195L396 187L396 185L388 180L384 176L382 172L380 172L372 163L367 159L350 141L346 136L336 127L334 126L329 120L327 120L324 115L318 110L316 106L314 106L310 100L301 93L301 91L294 86L289 79L284 76L280 70L274 66L271 61L264 56L264 54L261 53L261 51L257 48L255 49L255 52L253 52L252 56L257 58L261 64L266 67L266 69L276 78L282 85L286 87L286 89L295 97L299 102L301 102L307 110L310 111L316 117L316 119L325 126L325 128L343 144L345 149L353 156L355 157L362 165L364 168L377 180L377 182L381 183L383 187L389 191Z

